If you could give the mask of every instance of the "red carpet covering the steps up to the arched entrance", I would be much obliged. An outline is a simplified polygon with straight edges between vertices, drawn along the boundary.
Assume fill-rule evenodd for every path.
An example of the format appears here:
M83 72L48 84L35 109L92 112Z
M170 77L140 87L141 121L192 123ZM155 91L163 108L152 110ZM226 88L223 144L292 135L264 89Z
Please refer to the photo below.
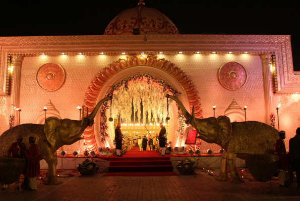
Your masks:
M175 174L169 156L159 156L156 151L140 151L139 147L133 147L123 157L111 157L108 171L109 173L105 176L163 176L169 173L171 175ZM169 173L165 174L165 172Z

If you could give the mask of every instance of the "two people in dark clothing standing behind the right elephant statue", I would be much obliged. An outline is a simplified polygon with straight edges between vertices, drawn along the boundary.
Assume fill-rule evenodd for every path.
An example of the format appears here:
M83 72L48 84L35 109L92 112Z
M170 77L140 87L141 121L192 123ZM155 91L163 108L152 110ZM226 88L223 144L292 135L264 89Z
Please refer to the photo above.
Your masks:
M287 154L284 139L285 131L280 131L279 139L275 144L275 155L279 157L279 187L289 189L288 172L295 171L298 189L300 189L300 128L297 128L296 135L289 140L289 152Z

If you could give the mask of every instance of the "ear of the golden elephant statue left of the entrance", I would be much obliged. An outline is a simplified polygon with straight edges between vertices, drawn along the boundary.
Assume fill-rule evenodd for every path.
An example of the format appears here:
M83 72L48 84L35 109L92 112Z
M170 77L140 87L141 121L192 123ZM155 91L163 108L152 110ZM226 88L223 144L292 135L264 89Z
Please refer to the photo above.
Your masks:
M49 117L45 121L44 131L46 138L52 147L54 147L58 138L59 126L61 126L61 120L57 117Z

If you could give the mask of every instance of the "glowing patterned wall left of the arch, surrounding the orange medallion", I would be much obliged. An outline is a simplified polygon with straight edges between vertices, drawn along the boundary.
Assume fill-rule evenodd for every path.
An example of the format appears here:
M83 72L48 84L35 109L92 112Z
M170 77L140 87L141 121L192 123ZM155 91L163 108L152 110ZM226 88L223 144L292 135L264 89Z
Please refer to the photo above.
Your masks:
M49 102L55 105L62 119L79 120L77 106L83 105L83 100L87 87L91 79L100 69L111 62L111 59L118 59L117 56L107 57L105 55L85 56L85 55L59 55L59 56L32 56L25 57L22 65L20 108L21 124L35 124L40 115L40 111ZM56 91L44 91L35 80L36 71L45 63L54 62L64 66L66 80L63 86ZM69 152L78 150L78 143L64 146ZM81 150L84 150L81 143Z

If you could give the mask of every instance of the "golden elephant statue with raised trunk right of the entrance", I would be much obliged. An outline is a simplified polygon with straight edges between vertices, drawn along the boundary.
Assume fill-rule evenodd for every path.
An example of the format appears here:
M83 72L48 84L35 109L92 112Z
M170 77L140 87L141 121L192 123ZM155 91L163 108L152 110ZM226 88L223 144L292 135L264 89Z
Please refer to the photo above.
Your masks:
M228 180L228 165L230 182L242 182L235 167L236 157L245 159L250 154L274 153L279 132L272 126L255 121L231 123L230 119L225 116L197 119L194 107L191 115L178 98L168 94L166 96L175 100L181 108L187 123L197 130L199 134L197 138L208 143L215 143L224 149L217 180Z

